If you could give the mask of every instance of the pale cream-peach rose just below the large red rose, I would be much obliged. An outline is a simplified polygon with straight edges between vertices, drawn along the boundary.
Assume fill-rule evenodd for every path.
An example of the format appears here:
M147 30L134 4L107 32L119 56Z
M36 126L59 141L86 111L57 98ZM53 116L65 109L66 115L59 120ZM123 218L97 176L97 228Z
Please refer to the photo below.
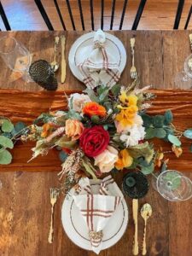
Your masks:
M101 172L110 172L114 168L114 163L118 160L118 151L108 146L107 149L94 159L95 166L98 166Z

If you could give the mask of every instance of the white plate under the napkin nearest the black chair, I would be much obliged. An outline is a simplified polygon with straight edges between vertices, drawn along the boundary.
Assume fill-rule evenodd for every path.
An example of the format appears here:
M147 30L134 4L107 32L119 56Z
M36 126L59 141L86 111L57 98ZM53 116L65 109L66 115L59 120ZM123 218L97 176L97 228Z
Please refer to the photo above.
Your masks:
M126 50L119 38L114 37L113 35L105 32L106 34L106 43L105 47L108 49L109 53L115 55L117 62L119 64L120 73L123 72L126 65ZM80 38L78 38L72 45L69 55L68 63L73 75L83 81L83 76L79 71L77 65L83 62L93 49L93 38L95 32L86 33Z

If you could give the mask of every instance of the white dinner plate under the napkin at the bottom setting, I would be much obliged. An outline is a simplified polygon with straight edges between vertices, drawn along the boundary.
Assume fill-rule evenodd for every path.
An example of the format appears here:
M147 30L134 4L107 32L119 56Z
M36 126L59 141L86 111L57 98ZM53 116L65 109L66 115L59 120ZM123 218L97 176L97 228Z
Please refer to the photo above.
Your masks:
M100 181L91 180L93 191L98 190ZM73 192L72 190L70 192ZM88 227L84 222L79 208L76 207L73 197L67 196L61 208L61 221L67 236L77 246L91 250ZM128 223L128 208L123 199L119 207L108 220L103 231L102 250L112 247L124 235Z

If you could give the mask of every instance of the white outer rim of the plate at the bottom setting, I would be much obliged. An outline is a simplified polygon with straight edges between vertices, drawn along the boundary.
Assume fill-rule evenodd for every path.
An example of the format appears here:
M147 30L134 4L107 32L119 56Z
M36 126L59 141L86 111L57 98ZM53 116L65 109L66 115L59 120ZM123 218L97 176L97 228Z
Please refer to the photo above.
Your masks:
M102 241L102 250L107 249L108 247L112 247L116 242L120 240L120 238L124 235L127 224L128 224L128 208L125 202L125 199L121 201L122 207L124 209L124 219L122 219L122 224L119 226L118 233L113 236L112 238ZM83 239L83 237L79 236L79 240L76 239L76 236L79 235L77 231L74 230L71 217L70 217L70 211L71 207L73 205L73 200L65 200L63 201L62 207L61 207L61 222L63 225L63 229L65 230L68 238L73 241L74 244L77 246L85 249L85 250L91 250L90 243L86 243Z

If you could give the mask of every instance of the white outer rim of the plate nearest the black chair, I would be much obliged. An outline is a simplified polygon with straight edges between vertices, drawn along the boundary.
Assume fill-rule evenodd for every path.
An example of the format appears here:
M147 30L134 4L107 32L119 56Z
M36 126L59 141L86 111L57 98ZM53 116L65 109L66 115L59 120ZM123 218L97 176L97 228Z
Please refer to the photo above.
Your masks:
M71 49L69 50L69 55L68 55L68 63L69 67L73 73L73 75L76 77L76 79L79 79L81 82L83 81L83 77L79 71L79 68L75 65L75 54L77 49L79 48L79 45L83 44L84 41L94 38L96 32L89 32L81 37L79 37L72 45ZM119 49L119 55L120 55L120 63L119 63L119 71L120 73L123 72L125 65L126 65L126 50L124 44L119 40L119 38L113 36L112 34L109 34L105 32L107 40L109 39L110 41L113 42L113 44L116 45L117 49Z

